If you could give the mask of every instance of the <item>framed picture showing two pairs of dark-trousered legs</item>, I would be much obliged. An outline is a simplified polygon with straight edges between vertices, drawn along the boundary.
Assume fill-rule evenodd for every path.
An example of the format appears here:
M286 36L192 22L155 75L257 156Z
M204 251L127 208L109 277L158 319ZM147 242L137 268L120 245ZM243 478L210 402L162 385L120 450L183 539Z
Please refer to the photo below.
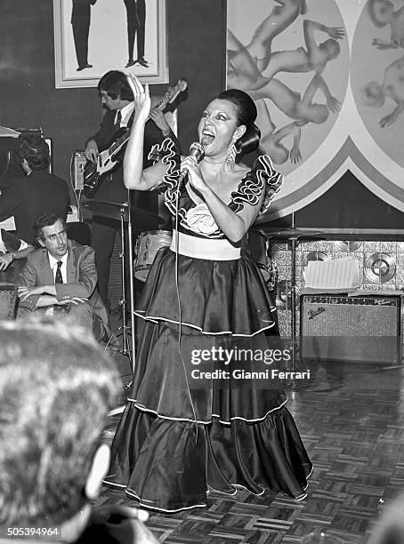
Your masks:
M57 89L114 69L168 83L166 0L53 0L53 27Z

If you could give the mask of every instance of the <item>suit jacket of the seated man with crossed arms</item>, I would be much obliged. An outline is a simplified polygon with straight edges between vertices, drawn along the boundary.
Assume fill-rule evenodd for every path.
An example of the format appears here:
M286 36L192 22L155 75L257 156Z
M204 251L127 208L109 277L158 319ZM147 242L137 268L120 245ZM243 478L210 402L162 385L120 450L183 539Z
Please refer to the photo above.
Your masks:
M108 315L101 297L96 290L97 271L94 263L94 251L89 245L68 242L67 283L56 284L57 300L83 297L93 307L96 316L101 318L108 331ZM53 271L49 264L49 255L45 248L29 253L27 263L18 278L19 285L36 287L54 284ZM20 301L20 308L33 310L41 295L31 295Z

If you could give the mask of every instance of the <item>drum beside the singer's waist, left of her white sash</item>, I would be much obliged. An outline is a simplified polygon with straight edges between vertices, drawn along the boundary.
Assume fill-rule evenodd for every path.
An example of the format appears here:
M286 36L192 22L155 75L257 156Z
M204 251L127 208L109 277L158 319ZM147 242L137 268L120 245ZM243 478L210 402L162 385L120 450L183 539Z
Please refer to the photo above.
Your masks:
M136 258L133 262L134 277L145 282L156 253L162 247L171 244L173 235L169 230L149 230L142 232L135 246Z

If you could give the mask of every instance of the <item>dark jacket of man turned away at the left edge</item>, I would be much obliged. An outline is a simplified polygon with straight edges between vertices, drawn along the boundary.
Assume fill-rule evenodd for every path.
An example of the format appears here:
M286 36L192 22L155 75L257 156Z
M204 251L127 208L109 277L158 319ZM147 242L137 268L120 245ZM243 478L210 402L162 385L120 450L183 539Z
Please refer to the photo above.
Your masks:
M66 220L70 204L66 181L44 171L16 178L0 195L0 220L14 216L16 235L35 244L33 227L41 213L55 213Z

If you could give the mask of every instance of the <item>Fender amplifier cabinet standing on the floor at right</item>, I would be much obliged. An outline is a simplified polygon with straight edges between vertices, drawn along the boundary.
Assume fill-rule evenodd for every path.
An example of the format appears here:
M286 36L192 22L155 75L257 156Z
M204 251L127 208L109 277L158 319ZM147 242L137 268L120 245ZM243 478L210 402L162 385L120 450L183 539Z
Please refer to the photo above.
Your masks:
M305 359L400 364L400 296L303 294Z

